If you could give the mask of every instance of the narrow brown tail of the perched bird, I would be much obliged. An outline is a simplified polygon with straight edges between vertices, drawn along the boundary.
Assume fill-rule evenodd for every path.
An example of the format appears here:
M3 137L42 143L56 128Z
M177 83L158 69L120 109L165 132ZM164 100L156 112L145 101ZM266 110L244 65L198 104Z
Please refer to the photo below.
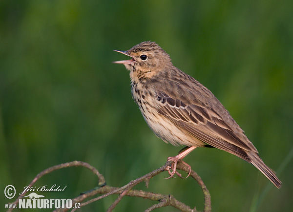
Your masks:
M275 185L278 189L281 188L282 182L277 178L275 173L265 165L262 159L258 156L256 152L250 152L249 154L251 158L251 164L253 164L258 170L260 170L266 177L271 180L273 185Z

